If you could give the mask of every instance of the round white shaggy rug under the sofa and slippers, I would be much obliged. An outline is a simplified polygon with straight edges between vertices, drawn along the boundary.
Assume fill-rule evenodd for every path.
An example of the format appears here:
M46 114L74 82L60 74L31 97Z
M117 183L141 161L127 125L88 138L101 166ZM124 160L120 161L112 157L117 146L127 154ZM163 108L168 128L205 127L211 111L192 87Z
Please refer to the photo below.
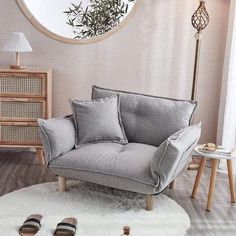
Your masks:
M125 225L132 236L180 236L190 227L187 213L164 194L154 196L154 209L146 211L145 195L100 185L68 181L67 192L57 183L23 188L0 198L0 235L16 236L33 213L43 215L37 235L53 235L66 217L78 220L76 235L120 236Z

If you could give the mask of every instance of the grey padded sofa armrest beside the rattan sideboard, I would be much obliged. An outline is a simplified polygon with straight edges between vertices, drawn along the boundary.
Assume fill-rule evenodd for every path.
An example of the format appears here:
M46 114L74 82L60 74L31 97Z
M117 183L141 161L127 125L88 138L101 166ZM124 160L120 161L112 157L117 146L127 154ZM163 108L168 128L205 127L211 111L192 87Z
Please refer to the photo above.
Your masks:
M75 125L72 116L38 119L39 133L47 164L75 146Z

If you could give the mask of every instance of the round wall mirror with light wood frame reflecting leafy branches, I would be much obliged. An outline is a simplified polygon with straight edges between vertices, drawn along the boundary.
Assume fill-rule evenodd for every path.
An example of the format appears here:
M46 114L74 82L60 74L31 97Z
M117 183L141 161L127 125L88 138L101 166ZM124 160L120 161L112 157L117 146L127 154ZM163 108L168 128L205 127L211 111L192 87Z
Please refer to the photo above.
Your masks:
M66 43L109 37L134 13L139 0L17 0L40 31Z

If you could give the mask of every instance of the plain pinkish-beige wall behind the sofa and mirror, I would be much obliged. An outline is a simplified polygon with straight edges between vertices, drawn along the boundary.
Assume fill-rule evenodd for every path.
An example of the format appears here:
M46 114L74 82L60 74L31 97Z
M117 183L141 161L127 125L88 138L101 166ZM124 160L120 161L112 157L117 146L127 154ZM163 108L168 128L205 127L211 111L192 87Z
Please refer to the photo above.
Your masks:
M22 31L34 52L27 65L52 66L53 114L70 113L68 98L90 98L91 85L189 99L194 58L190 18L197 0L140 0L136 15L112 37L91 45L67 45L40 33L15 0L1 0L0 46ZM215 141L229 0L208 0L211 23L202 43L196 121L204 141ZM0 53L0 65L14 55Z

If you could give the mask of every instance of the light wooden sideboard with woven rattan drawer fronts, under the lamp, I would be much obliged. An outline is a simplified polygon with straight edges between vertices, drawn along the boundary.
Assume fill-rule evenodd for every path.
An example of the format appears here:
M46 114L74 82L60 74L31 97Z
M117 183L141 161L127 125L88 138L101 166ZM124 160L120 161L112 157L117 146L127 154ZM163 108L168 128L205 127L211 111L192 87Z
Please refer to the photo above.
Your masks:
M37 119L51 116L51 68L0 68L0 147L35 148L44 164Z

